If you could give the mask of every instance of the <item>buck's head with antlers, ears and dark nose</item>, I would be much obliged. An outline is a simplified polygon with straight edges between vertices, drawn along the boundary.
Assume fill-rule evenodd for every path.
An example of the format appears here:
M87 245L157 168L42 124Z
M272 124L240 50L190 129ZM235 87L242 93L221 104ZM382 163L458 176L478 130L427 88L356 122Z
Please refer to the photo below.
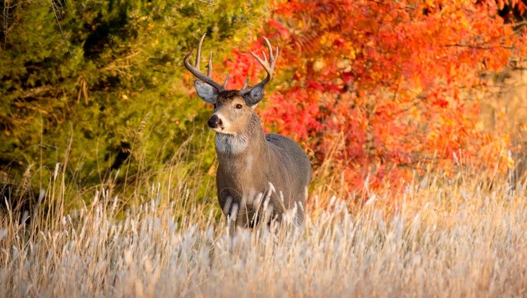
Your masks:
M201 43L206 34L203 34L198 44L195 66L191 66L188 58L192 54L189 52L183 59L185 67L197 77L194 83L198 96L206 103L214 105L214 114L208 119L208 126L219 132L227 135L235 135L237 132L248 128L252 117L255 116L254 108L257 106L261 98L264 96L264 87L266 83L272 79L272 72L275 70L275 63L278 57L278 48L276 54L273 56L272 47L268 39L266 40L269 50L269 61L267 61L266 54L264 60L258 57L255 53L250 52L255 59L264 67L267 72L267 77L264 81L257 83L255 86L248 86L249 79L246 80L245 85L241 90L226 90L229 75L223 85L213 81L210 77L212 73L212 52L208 60L207 74L203 74L199 70L199 60L201 59Z

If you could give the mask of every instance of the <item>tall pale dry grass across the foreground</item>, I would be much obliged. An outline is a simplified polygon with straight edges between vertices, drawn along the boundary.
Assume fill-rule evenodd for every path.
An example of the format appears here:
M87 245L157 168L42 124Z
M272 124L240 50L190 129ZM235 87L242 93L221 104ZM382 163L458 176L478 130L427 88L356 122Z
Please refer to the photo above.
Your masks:
M219 209L170 172L149 177L146 203L123 216L108 190L57 208L68 187L59 169L40 198L55 208L22 224L1 214L0 297L527 295L524 184L430 174L395 199L364 192L358 211L312 196L300 228L230 237Z

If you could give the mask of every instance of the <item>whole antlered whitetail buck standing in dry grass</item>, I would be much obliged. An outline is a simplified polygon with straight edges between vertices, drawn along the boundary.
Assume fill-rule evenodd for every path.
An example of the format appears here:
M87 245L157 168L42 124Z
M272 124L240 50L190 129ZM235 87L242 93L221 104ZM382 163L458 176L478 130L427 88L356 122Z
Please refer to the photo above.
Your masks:
M252 228L258 222L281 221L284 215L295 224L304 221L304 203L311 179L311 164L306 152L292 139L283 135L264 133L255 108L264 96L264 86L272 79L278 48L273 56L266 40L269 61L250 52L264 67L267 77L255 86L248 79L241 90L226 90L229 76L221 85L210 77L212 52L207 74L199 70L201 37L195 66L184 58L185 66L197 77L195 88L203 101L214 105L208 126L216 132L215 145L219 167L216 186L219 205L234 226Z

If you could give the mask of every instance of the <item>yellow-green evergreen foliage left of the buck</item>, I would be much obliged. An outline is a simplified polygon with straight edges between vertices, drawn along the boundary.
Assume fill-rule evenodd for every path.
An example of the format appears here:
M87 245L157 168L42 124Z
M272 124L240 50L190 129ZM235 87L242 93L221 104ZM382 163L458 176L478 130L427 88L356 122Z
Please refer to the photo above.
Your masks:
M224 2L2 2L0 170L39 174L37 183L68 157L68 179L81 188L169 163L211 111L189 96L183 55L208 32L203 50L223 57L268 12L266 1ZM209 168L210 141L189 142L181 170Z

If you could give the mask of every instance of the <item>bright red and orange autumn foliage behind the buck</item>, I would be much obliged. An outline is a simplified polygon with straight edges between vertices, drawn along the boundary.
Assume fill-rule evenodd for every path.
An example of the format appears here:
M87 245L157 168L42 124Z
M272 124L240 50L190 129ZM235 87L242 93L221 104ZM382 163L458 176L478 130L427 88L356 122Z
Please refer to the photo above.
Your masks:
M524 37L495 14L501 5L275 3L264 34L281 54L264 122L306 141L319 162L336 152L333 170L344 172L350 188L364 186L367 175L370 186L409 179L428 164L450 175L461 158L506 170L508 135L483 132L472 92L479 72L524 55ZM261 41L252 48L261 50ZM243 85L246 71L257 81L254 59L235 54L236 83Z

